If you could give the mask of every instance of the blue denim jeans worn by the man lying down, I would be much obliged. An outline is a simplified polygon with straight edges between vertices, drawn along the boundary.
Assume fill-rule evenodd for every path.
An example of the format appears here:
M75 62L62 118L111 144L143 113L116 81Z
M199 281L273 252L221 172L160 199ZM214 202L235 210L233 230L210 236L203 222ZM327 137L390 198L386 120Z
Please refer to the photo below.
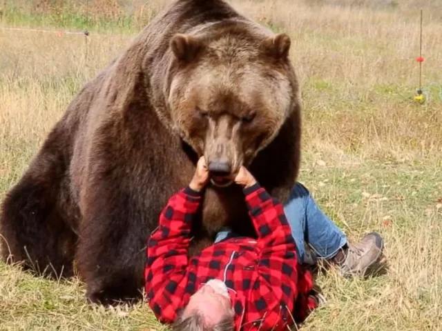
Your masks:
M347 243L345 234L320 210L309 190L301 183L296 183L291 190L284 212L291 227L300 263L305 260L305 243L323 259L334 257ZM226 228L218 232L215 242L231 237L236 237L236 234Z

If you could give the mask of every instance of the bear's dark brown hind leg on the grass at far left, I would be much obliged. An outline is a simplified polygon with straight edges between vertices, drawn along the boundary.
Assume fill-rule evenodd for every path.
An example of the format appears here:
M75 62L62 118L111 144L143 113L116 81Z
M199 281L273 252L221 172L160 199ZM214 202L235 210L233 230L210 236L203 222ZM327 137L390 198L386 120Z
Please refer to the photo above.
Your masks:
M0 249L3 261L61 278L73 275L77 236L66 223L66 205L59 202L68 197L61 192L64 167L52 153L41 152L6 194L0 214Z

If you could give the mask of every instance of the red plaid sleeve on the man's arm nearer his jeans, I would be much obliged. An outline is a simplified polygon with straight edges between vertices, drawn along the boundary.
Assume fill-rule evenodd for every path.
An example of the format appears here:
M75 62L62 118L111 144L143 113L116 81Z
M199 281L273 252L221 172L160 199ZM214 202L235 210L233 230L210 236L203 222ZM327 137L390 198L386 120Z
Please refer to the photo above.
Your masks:
M260 249L247 317L257 323L247 330L282 330L284 325L303 321L314 308L308 296L313 280L298 264L296 243L282 204L258 183L244 189L244 194Z

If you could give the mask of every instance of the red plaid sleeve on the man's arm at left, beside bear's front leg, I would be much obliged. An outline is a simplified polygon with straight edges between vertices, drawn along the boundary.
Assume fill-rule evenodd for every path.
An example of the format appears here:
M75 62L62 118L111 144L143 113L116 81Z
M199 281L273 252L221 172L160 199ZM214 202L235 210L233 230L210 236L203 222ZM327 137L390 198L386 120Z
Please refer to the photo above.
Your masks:
M191 223L200 199L200 193L189 186L171 197L160 214L158 228L148 239L144 270L146 299L163 323L173 323L182 306Z

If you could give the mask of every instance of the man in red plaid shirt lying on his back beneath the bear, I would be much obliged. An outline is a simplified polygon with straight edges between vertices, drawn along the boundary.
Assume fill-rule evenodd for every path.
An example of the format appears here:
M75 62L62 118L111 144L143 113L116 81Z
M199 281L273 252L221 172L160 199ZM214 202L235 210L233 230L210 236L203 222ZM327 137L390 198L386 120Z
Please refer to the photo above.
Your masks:
M160 321L175 322L175 330L287 330L319 299L299 263L315 265L318 255L345 276L363 276L381 259L383 240L376 232L348 243L302 184L295 184L282 210L242 168L235 181L244 188L258 240L226 229L189 261L191 221L207 180L200 159L191 183L170 199L160 230L148 241L147 299ZM306 241L314 252L307 253Z

